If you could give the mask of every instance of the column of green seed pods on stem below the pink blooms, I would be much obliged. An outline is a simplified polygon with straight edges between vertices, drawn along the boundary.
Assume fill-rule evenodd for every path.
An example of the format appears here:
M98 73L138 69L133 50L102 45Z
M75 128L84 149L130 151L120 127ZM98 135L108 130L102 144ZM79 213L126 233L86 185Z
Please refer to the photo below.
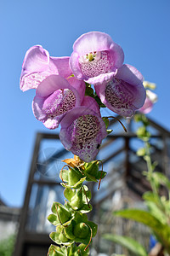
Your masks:
M64 160L69 163L67 169L60 171L60 178L65 187L65 205L54 202L52 214L48 216L48 221L54 224L55 231L49 236L57 244L49 248L48 255L89 255L88 246L92 237L96 235L97 224L88 221L86 213L92 210L89 204L91 193L86 185L86 181L98 182L105 177L105 172L99 171L99 161L94 160L90 163L81 162L77 159ZM78 247L73 243L81 243Z

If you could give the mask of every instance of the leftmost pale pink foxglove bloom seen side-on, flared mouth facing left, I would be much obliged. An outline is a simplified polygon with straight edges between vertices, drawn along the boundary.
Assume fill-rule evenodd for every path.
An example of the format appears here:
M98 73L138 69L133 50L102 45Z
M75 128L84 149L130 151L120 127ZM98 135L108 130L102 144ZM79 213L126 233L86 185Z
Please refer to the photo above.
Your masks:
M27 50L20 75L20 90L37 89L37 86L51 74L64 78L71 76L70 57L50 57L46 49L36 45Z

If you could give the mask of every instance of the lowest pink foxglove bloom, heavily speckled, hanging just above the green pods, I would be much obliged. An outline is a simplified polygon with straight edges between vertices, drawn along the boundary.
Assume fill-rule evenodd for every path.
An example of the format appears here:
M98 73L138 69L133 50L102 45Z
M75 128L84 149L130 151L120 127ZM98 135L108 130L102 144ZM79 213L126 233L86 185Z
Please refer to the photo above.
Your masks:
M64 147L85 162L94 160L102 140L107 136L94 99L85 96L83 106L72 109L61 120L59 138ZM88 105L88 100L90 104ZM93 110L94 109L94 110Z

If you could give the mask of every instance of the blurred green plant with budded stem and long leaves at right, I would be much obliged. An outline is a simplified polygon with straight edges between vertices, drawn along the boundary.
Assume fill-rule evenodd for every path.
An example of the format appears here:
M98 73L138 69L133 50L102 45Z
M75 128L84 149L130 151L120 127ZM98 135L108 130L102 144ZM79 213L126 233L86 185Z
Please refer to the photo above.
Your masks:
M155 172L156 162L151 161L148 119L142 113L135 114L134 119L142 124L137 131L137 135L144 142L144 147L139 148L137 154L144 158L148 169L147 172L144 171L144 176L150 183L151 191L143 195L147 210L125 209L113 212L113 214L114 216L132 219L147 225L156 237L160 247L156 254L148 254L147 250L139 242L130 237L105 234L104 238L126 247L130 252L138 256L170 255L170 181L161 172ZM162 188L166 191L165 194L167 196L161 195Z

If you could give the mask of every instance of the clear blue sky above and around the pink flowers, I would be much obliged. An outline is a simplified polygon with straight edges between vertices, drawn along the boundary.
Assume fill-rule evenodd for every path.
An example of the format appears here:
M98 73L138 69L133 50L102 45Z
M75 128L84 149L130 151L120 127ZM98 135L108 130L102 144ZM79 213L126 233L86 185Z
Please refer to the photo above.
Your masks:
M169 9L169 0L0 1L0 197L9 206L21 206L36 132L47 131L31 111L35 90L20 91L26 50L41 44L50 55L71 55L82 33L110 34L122 46L125 63L157 84L159 101L149 116L170 130Z

